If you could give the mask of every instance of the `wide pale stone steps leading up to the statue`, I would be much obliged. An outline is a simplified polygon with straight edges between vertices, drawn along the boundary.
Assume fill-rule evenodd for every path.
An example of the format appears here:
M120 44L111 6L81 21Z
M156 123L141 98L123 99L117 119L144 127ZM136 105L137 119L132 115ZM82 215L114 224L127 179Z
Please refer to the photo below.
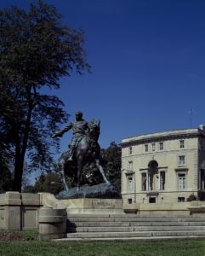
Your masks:
M205 218L136 214L75 214L61 241L165 240L205 237Z

